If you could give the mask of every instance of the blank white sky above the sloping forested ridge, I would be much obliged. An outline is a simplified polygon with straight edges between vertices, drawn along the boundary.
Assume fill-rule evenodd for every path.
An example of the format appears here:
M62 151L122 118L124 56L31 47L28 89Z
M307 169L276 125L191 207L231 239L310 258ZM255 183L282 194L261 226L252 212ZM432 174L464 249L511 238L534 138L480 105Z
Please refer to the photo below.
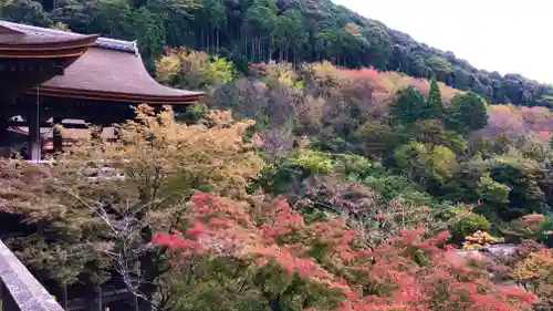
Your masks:
M333 0L477 69L553 83L552 0Z

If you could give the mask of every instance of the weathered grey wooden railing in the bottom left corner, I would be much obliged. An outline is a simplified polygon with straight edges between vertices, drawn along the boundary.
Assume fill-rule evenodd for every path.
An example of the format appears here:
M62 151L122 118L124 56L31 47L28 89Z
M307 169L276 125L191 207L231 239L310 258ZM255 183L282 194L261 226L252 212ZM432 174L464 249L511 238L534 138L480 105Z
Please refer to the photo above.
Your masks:
M2 311L63 311L1 240L0 301Z

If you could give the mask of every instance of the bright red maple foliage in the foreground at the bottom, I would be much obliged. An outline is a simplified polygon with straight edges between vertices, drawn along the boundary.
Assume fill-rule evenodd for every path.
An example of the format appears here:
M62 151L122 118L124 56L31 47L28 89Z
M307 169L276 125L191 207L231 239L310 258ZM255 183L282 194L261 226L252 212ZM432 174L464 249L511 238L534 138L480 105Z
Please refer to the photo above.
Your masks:
M210 194L192 196L185 231L158 234L154 242L175 251L231 256L262 268L269 263L312 283L340 289L338 311L524 310L533 294L501 288L482 262L444 247L442 232L420 230L371 249L341 218L307 224L283 199L236 203Z

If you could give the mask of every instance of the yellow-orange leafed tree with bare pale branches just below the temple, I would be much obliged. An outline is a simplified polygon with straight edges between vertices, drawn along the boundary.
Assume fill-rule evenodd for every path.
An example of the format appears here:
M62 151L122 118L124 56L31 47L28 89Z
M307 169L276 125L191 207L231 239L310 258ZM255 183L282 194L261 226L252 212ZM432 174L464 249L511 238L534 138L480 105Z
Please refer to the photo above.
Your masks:
M41 228L13 241L23 261L61 284L81 281L92 291L117 278L139 310L161 308L154 294L170 256L152 248L154 234L179 228L194 189L244 197L262 165L243 141L252 122L211 112L205 123L178 123L169 108L140 105L114 143L91 139L54 166L2 163L2 203ZM98 174L108 168L123 178Z

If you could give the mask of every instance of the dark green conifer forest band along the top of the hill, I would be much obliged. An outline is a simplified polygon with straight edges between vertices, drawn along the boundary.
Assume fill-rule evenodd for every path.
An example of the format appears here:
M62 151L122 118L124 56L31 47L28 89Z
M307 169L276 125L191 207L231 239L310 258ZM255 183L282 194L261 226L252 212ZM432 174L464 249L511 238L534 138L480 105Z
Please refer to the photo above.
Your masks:
M0 2L7 20L137 39L149 60L165 45L216 53L242 70L248 62L327 60L347 68L436 76L491 103L553 103L551 85L478 70L452 52L418 43L331 0L60 0L52 12L33 0Z

